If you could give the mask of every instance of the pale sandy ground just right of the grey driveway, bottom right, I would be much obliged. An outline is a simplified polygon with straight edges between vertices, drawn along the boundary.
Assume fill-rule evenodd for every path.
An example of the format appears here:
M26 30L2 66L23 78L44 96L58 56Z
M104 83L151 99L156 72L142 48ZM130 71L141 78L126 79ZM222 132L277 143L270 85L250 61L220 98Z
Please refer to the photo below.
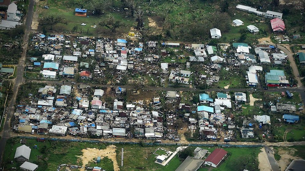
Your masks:
M279 148L278 153L281 156L281 159L277 161L277 163L281 171L284 171L293 159L300 159L298 157L292 156L292 154L295 153L295 149L292 148L286 150L283 148Z

